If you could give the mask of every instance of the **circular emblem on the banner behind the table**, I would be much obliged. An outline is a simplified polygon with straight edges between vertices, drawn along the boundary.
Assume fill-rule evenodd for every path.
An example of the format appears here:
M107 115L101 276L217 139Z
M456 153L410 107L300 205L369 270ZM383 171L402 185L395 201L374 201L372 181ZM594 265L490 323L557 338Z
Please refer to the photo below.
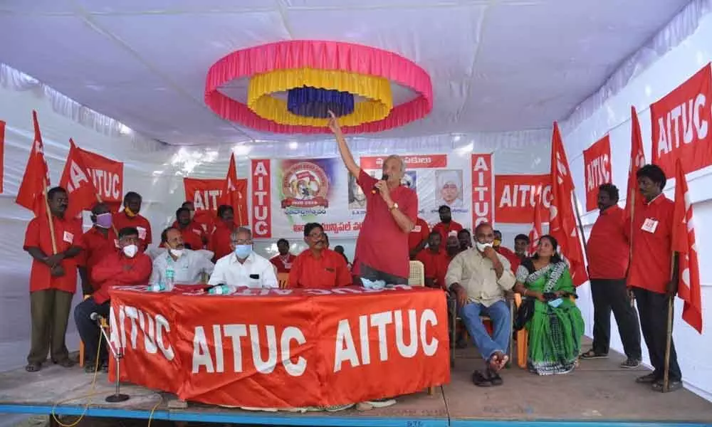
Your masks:
M282 179L282 208L289 206L328 207L326 196L329 179L324 169L310 162L299 162L284 172Z

